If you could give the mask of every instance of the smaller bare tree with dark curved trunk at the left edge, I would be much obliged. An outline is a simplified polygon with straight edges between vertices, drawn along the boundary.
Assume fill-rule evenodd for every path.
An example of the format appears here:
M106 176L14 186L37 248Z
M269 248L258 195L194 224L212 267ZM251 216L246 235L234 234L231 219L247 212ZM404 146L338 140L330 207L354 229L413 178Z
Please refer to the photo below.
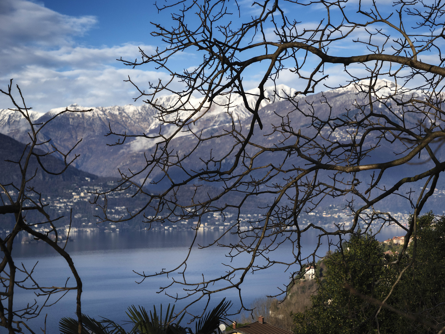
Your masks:
M30 333L35 333L25 322L28 319L38 317L42 312L44 313L45 307L51 306L65 296L71 290L77 292L77 307L76 313L78 317L78 333L82 331L81 324L81 293L82 293L82 281L77 273L77 270L73 264L73 260L69 254L65 251L66 244L69 239L69 232L65 236L57 231L57 223L63 221L64 216L51 217L48 213L48 204L45 204L45 194L39 192L39 189L34 187L33 179L36 178L38 169L43 170L43 173L49 175L60 175L66 171L67 168L77 159L78 155L69 160L69 154L64 154L53 146L53 151L41 151L38 148L46 143L51 143L51 139L40 139L40 131L51 122L58 115L67 112L86 112L90 110L65 110L53 114L48 120L43 123L35 123L32 114L29 112L32 108L27 107L24 101L22 92L19 86L17 86L19 101L13 96L12 93L12 80L8 85L8 90L0 90L3 94L6 94L12 104L14 110L24 117L30 131L29 143L24 146L21 156L17 160L6 160L12 166L15 166L16 174L2 176L2 179L9 179L9 181L3 181L0 183L0 214L4 215L4 227L8 223L9 216L13 216L14 224L10 232L0 238L0 249L3 253L2 260L0 262L0 326L8 330L9 334L12 333L24 333L24 330ZM74 147L73 147L74 148ZM51 169L46 165L48 157L53 155L61 155L63 161L61 161L61 169L57 171L47 170ZM5 157L2 157L4 159ZM54 166L54 164L53 164ZM53 167L51 166L51 167ZM14 167L8 170L12 170ZM5 172L5 171L3 171ZM69 217L69 229L71 228L71 213ZM27 232L35 240L40 240L52 247L61 257L63 257L73 273L74 284L66 280L63 286L45 286L41 285L33 278L33 273L36 270L36 265L32 268L27 268L23 263L18 264L14 260L13 248L14 244L20 242L20 232ZM34 293L34 297L28 301L25 306L17 306L14 302L14 295L17 289L30 290ZM43 299L43 300L42 300ZM45 317L46 324L46 317ZM46 331L46 326L42 329ZM40 330L39 330L40 331Z

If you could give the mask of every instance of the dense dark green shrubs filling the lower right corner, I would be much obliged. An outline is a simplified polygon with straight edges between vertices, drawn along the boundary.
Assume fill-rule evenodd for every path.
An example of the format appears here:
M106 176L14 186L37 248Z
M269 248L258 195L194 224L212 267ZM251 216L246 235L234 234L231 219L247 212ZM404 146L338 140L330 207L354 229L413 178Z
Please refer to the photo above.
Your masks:
M425 322L445 326L445 221L433 218L431 213L419 218L417 247L412 243L399 264L384 265L396 257L385 256L370 235L352 236L343 251L326 257L312 307L293 314L294 333L437 333ZM404 315L382 308L376 316L376 302L384 300L409 264L386 301Z

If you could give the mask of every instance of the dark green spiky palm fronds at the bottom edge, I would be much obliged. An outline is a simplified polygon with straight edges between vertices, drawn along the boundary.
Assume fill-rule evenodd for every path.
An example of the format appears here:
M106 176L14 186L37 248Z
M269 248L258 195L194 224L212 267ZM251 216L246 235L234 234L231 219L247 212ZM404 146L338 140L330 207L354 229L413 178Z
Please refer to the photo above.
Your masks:
M132 326L128 332L116 322L102 318L97 321L82 314L83 331L82 334L210 334L218 328L219 322L224 319L224 315L230 308L231 302L225 298L203 318L199 319L193 333L190 327L179 325L185 313L181 317L174 314L174 305L170 310L167 307L165 317L162 316L162 305L160 313L153 306L153 313L147 313L144 307L132 305L125 312L129 320L125 324ZM62 318L59 322L61 334L77 334L78 323L73 318Z

